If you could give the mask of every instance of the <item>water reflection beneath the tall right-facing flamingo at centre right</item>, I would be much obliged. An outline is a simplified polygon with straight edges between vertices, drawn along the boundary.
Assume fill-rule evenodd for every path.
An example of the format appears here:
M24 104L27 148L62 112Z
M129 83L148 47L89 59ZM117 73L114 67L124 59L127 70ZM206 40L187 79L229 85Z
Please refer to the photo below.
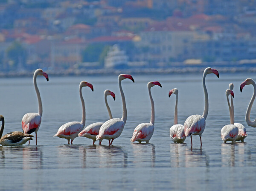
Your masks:
M209 156L202 148L185 148L185 166L198 167L209 166Z

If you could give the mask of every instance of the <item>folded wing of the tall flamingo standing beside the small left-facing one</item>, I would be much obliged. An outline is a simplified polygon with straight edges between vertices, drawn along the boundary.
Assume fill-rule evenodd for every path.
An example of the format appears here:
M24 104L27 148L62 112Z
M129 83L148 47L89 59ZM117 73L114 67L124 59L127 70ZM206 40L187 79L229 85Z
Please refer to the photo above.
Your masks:
M202 134L204 132L205 119L201 115L189 116L184 123L184 131L186 136L192 134Z

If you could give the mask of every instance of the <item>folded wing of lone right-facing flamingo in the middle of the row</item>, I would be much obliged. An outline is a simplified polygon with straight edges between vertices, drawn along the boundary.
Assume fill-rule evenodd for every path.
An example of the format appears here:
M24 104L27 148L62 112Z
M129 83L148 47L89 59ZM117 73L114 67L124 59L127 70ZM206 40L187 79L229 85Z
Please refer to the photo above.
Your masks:
M154 125L151 123L141 123L135 129L132 134L131 142L136 141L137 139L145 139L147 136L153 134Z

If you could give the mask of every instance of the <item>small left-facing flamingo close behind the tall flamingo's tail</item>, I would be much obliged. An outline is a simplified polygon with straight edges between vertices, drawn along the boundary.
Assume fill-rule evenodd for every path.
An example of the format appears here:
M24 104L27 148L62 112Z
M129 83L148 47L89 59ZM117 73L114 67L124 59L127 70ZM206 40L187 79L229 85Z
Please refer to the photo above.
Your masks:
M172 94L176 95L176 104L175 104L175 112L174 112L174 125L170 128L170 137L173 142L177 143L183 143L186 139L185 132L184 132L184 126L182 124L178 124L178 89L174 88L171 91L169 91L169 97Z

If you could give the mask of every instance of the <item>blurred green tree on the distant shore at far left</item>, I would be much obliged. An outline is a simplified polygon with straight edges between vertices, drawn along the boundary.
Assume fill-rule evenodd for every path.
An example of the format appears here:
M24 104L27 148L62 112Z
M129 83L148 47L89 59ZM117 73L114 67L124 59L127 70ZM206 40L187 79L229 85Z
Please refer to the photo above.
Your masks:
M26 63L26 49L23 48L21 43L14 41L6 51L11 69L16 69L18 64L21 64L20 67L24 67Z

